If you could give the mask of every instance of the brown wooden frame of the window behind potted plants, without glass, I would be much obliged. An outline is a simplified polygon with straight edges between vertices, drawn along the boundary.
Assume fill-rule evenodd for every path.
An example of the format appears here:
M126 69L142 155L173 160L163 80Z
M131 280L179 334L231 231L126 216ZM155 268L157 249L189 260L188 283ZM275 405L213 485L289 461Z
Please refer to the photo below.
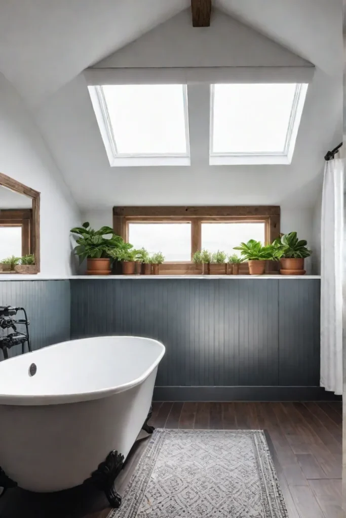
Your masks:
M193 254L201 249L201 224L203 222L265 223L266 244L280 235L279 206L230 206L230 207L113 207L115 234L128 241L129 223L135 222L189 222L191 223L191 261L164 262L162 275L199 275L201 270L192 262ZM267 263L267 272L278 270L276 263ZM248 274L246 263L240 267L241 274Z

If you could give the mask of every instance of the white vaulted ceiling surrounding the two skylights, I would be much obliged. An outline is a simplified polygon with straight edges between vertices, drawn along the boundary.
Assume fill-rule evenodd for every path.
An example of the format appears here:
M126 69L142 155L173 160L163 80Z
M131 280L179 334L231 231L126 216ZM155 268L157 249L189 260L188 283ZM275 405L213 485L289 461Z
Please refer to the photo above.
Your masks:
M141 46L150 59L144 44L154 33L160 35L157 45L163 46L165 34L173 37L174 45L176 33L176 49L184 53L179 47L182 32L199 31L192 28L190 12L185 11L188 6L188 0L1 3L0 71L30 106L82 209L131 204L312 206L321 184L324 154L341 141L342 0L214 2L210 30L213 20L220 23L224 27L220 38L227 37L227 27L242 22L250 27L246 30L257 31L262 41L272 40L266 45L282 46L282 55L296 54L292 56L297 62L302 58L301 62L316 67L292 164L210 166L209 86L191 84L191 166L109 166L81 72L113 53L126 66L126 59L138 57ZM225 53L225 45L220 50Z

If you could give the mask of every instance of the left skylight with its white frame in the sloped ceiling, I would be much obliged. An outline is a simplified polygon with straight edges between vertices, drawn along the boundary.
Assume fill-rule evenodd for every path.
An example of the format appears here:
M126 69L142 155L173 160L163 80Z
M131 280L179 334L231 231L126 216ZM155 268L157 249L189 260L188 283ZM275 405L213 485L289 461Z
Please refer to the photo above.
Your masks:
M110 165L190 165L183 84L89 87Z

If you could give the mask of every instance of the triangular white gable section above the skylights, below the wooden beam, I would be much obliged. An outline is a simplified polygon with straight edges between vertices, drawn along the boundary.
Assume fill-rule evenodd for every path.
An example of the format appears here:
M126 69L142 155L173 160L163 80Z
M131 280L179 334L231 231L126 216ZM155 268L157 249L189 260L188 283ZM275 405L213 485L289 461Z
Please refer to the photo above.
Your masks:
M306 67L293 52L214 9L210 27L191 30L191 9L110 54L94 68Z

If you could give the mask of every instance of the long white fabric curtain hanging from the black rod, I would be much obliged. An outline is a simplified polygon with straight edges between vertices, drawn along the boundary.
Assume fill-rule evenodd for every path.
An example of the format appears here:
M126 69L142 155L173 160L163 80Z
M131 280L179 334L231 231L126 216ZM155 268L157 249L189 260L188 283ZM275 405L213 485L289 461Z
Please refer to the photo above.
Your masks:
M321 386L342 394L342 159L325 164L321 221Z

